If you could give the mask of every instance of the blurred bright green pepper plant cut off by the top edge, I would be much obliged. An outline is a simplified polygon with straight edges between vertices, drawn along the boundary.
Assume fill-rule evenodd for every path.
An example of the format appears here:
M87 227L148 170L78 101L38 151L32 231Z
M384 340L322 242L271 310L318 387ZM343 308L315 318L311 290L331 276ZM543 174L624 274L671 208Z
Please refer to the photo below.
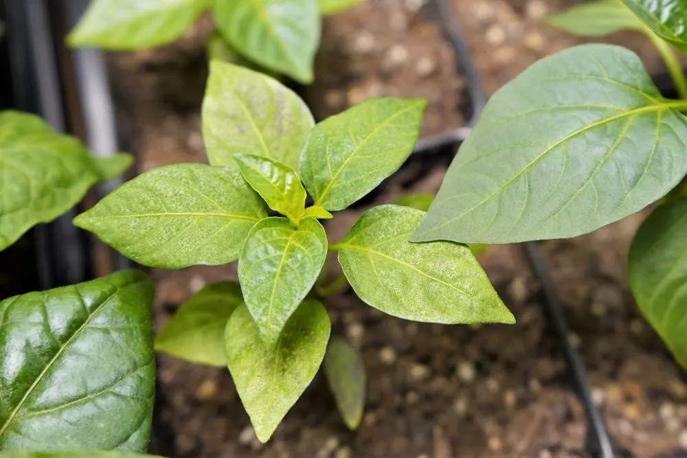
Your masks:
M322 15L358 3L361 0L92 0L67 41L117 51L165 45L209 10L219 32L210 51L235 50L249 63L308 83L313 80Z

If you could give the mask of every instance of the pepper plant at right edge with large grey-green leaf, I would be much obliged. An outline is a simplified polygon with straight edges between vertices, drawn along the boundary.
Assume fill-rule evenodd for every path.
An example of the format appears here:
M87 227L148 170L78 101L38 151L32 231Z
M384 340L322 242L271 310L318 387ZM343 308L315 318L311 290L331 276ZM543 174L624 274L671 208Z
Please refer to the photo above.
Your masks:
M660 201L631 244L629 283L687 367L687 84L671 49L687 51L687 1L600 1L551 22L585 36L646 34L680 98L664 98L619 46L581 45L534 63L488 102L411 240L574 237Z

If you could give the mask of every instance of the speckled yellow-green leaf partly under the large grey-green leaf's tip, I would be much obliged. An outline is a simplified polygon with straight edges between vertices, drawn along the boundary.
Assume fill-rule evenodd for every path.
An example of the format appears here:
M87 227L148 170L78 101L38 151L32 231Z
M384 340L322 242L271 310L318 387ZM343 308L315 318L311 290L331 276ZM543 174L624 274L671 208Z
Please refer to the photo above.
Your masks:
M355 293L413 321L515 323L469 247L408 241L424 215L398 205L374 207L334 245Z

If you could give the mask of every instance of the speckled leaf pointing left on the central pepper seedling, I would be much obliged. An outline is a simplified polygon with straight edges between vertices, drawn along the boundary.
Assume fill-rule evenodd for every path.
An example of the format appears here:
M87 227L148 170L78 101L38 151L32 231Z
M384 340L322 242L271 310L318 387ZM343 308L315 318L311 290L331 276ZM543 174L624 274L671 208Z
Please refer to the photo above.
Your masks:
M74 224L139 264L183 268L238 259L248 231L266 216L238 170L183 163L124 183Z

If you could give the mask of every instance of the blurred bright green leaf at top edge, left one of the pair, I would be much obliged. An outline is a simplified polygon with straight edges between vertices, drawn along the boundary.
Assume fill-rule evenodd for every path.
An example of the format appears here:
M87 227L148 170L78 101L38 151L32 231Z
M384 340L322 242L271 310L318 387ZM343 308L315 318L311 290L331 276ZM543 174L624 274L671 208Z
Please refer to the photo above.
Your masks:
M67 43L118 51L164 45L208 8L210 0L93 0Z

